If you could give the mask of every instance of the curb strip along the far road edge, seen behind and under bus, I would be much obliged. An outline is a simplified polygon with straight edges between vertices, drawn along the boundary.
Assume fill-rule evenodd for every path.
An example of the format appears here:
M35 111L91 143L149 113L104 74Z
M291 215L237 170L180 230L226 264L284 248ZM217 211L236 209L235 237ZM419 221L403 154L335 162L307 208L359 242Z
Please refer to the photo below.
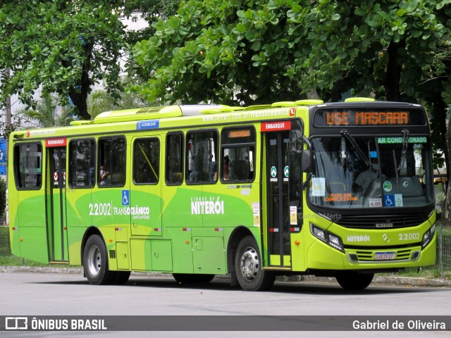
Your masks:
M66 273L83 275L82 268L52 268L32 266L0 266L0 273ZM132 273L132 276L142 277L171 277L170 273ZM218 275L217 279L229 279L227 275ZM279 282L305 282L321 284L338 284L332 277L293 276L278 277ZM451 280L428 279L424 277L401 277L376 275L371 285L397 285L404 287L451 287Z

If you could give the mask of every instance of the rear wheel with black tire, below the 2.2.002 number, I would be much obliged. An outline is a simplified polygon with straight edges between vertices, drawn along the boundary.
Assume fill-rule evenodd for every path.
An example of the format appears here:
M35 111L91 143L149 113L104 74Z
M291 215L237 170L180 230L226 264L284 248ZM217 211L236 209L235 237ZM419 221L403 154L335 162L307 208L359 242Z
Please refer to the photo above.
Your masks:
M89 284L110 284L113 281L114 274L108 268L105 243L97 234L86 241L85 251L83 251L83 268Z

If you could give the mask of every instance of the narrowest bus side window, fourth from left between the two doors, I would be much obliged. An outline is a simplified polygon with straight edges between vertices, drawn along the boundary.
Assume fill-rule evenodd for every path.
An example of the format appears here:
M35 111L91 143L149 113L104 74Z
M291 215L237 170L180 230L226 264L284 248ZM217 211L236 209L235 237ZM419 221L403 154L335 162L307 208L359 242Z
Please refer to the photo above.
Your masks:
M183 134L166 137L166 184L183 183Z

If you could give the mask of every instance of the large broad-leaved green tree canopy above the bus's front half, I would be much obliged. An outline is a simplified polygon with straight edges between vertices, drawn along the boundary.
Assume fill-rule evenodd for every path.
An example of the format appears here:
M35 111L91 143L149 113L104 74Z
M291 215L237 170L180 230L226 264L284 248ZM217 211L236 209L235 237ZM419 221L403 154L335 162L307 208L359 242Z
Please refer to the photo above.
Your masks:
M177 15L154 23L154 36L135 44L132 70L144 82L131 89L152 101L185 103L260 104L313 92L338 101L350 89L421 102L430 107L440 154L451 104L450 4L185 1Z

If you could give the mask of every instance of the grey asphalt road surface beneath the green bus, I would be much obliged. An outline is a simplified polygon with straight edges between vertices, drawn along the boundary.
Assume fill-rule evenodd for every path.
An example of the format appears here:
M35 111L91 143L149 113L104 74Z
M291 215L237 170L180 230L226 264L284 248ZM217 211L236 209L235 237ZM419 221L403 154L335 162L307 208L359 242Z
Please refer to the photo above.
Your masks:
M326 282L276 282L269 292L243 292L230 288L225 279L216 279L209 284L184 286L172 277L133 275L123 286L93 286L82 275L61 273L0 273L1 306L3 316L39 316L66 315L88 316L132 316L136 320L168 320L174 317L174 327L168 331L127 332L127 337L274 337L275 332L258 332L253 328L260 323L262 327L276 315L278 318L302 316L307 318L306 325L320 323L322 332L302 332L299 328L293 332L277 332L290 337L417 337L418 332L394 332L376 330L357 332L349 320L359 320L359 316L371 316L372 320L383 321L387 317L393 320L438 321L451 314L451 288L449 287L400 287L372 284L362 292L346 292L338 284ZM240 328L240 332L190 331L185 321L196 322L205 316L219 318L245 318L247 323L231 323ZM149 316L149 317L138 317ZM185 317L195 316L195 317ZM243 317L244 316L244 317ZM250 317L247 317L250 316ZM326 317L319 317L326 316ZM344 316L344 317L343 317ZM416 317L421 316L421 317ZM116 318L116 317L114 317ZM319 318L319 319L318 319ZM110 318L111 319L111 318ZM249 322L249 320L251 320ZM253 321L252 321L253 320ZM260 322L259 322L260 320ZM330 330L328 324L342 322L338 331ZM309 323L310 322L310 323ZM450 320L451 322L451 320ZM111 324L111 320L109 321ZM257 324L256 324L257 323ZM290 325L290 322L287 325ZM144 324L144 323L139 323ZM154 325L163 323L154 322ZM221 325L221 323L219 323ZM276 323L279 324L279 323ZM210 325L214 325L211 324ZM144 325L145 326L145 325ZM277 325L276 325L277 326ZM306 327L307 327L306 326ZM194 325L194 327L196 327ZM257 326L258 327L258 326ZM316 326L315 326L316 327ZM331 326L333 327L333 326ZM111 328L111 327L110 327ZM235 327L236 329L236 327ZM252 330L251 330L252 329ZM200 330L199 328L194 330ZM211 327L209 330L218 330ZM250 330L250 331L247 331ZM285 329L286 330L286 327ZM302 329L301 329L302 330ZM10 332L0 332L3 336ZM414 334L416 335L414 336ZM124 337L124 332L17 332L14 337ZM441 330L421 332L423 337L450 337L450 332Z

